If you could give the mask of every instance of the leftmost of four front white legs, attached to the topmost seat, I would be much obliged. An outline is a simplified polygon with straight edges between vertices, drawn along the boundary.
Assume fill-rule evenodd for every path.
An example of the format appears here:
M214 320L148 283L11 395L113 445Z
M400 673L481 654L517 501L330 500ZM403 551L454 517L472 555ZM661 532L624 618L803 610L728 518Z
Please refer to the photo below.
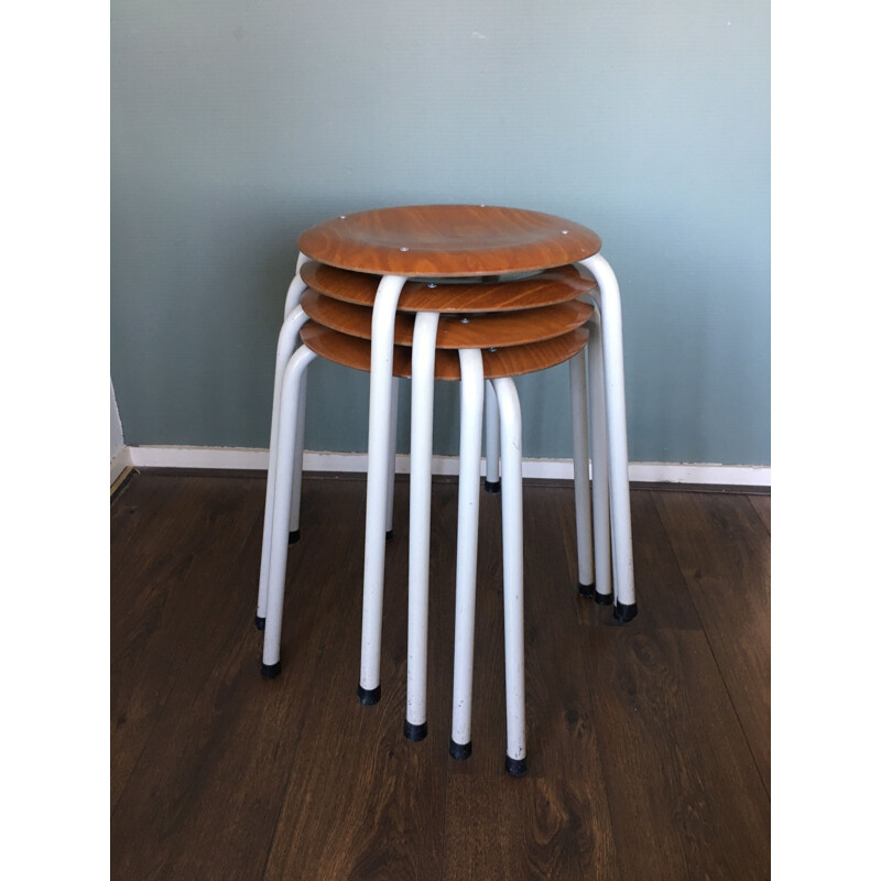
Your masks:
M385 514L389 492L394 315L404 286L402 275L385 275L373 302L370 346L370 414L367 442L367 516L365 525L365 592L361 618L361 703L380 697L382 587L385 570Z

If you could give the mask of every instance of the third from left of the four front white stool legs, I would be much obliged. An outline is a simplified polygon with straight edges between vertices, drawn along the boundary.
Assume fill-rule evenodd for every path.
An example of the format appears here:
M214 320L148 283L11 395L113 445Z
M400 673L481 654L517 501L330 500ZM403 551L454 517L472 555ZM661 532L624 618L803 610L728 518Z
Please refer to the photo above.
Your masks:
M456 635L453 661L453 732L449 754L471 754L471 684L475 656L477 529L480 507L480 433L483 422L483 356L460 349L459 511L456 535ZM507 471L505 471L507 475ZM505 477L505 486L508 478Z

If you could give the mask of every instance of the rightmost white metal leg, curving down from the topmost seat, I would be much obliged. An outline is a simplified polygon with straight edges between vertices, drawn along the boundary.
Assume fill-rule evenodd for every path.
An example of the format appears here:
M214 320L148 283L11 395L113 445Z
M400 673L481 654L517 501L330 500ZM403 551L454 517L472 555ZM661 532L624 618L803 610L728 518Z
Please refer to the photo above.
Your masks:
M624 405L624 349L621 295L612 268L600 254L581 261L599 285L598 306L602 334L602 369L606 387L606 431L609 453L609 496L612 523L614 617L630 621L637 616L633 584L633 540L630 523L630 482Z

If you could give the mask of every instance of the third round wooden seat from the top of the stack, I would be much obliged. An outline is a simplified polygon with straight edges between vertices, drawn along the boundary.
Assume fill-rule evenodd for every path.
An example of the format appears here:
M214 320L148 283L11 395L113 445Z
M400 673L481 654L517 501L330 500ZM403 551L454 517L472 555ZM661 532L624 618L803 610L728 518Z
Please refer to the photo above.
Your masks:
M370 339L373 312L369 306L333 300L311 289L303 293L300 304L317 324L341 334ZM537 342L580 327L592 313L592 306L573 300L522 312L443 315L437 323L436 346L438 349L487 349ZM394 322L395 344L413 345L415 320L413 314L398 314Z

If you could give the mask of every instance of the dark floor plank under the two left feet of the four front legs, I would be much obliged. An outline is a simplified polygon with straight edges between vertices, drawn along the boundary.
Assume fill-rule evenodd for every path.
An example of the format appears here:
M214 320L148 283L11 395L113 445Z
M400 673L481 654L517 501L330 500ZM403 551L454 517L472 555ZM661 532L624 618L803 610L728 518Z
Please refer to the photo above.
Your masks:
M428 736L404 738L406 711L407 483L399 481L394 541L387 545L382 699L356 697L360 668L362 566L350 570L349 599L338 603L329 649L313 670L316 698L290 762L284 806L265 879L440 878L452 664L443 634L452 633L455 535L450 485L435 487L429 586ZM362 521L360 521L362 524ZM362 529L362 525L361 525ZM360 551L360 546L359 546ZM354 554L352 557L357 557Z

